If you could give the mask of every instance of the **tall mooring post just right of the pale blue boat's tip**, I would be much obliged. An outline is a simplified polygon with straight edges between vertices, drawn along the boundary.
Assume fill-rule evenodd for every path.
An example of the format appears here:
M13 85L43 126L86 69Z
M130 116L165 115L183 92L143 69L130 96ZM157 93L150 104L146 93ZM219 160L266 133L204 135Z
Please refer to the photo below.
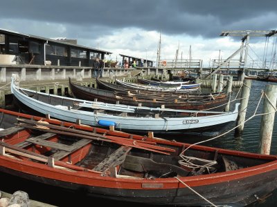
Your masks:
M249 94L251 89L251 79L244 79L242 86L242 95L240 101L240 108L238 110L238 120L237 125L238 128L235 128L235 134L241 134L244 128L245 115L247 113L247 105L249 100Z

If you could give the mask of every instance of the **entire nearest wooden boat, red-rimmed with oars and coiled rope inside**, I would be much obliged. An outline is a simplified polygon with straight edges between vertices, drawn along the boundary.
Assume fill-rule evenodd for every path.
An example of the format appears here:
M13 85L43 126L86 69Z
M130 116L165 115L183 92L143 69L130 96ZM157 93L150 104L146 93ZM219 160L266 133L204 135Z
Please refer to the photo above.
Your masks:
M277 188L275 155L0 111L1 173L142 205L246 206Z

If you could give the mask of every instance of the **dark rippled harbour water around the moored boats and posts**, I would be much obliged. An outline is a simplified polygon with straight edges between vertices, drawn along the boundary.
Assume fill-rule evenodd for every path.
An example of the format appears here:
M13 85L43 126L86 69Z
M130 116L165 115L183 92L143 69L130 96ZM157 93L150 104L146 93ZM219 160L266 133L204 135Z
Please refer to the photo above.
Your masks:
M251 93L249 97L249 105L247 108L246 119L253 116L256 111L256 116L247 121L244 124L244 131L242 135L235 136L235 131L231 130L235 127L235 123L224 128L224 132L231 130L231 132L217 137L211 141L206 141L201 145L213 146L217 148L225 148L229 150L241 150L245 152L257 152L260 144L260 122L262 117L259 115L262 113L262 103L263 99L260 101L261 92L265 90L267 84L276 84L263 81L252 81ZM239 89L233 89L232 99L238 94ZM238 98L240 95L238 95ZM239 102L239 101L238 101ZM234 104L232 104L233 110ZM220 130L220 129L219 129ZM216 133L208 134L202 133L198 135L184 135L184 136L168 136L163 137L166 139L175 139L176 141L187 142L190 144L197 143L198 141L204 141L205 139L211 139L217 136ZM277 155L277 117L274 121L274 132L272 135L271 142L271 155ZM16 190L24 190L28 193L30 199L35 199L38 201L44 201L48 204L55 206L98 206L101 205L120 205L120 206L136 206L136 204L120 203L118 201L108 201L105 199L91 198L87 197L82 193L72 193L66 190L62 190L57 187L45 186L43 184L36 184L33 181L26 181L19 179L17 177L12 177L10 175L1 175L0 190L7 191L8 193L13 193ZM3 182L5 180L5 182ZM243 193L243 192L241 192ZM264 202L259 204L253 204L251 206L265 207L265 206L275 206L277 202L277 190L274 191L271 197L268 197ZM138 204L138 206L141 206ZM144 205L143 206L148 206ZM230 205L231 206L231 205Z

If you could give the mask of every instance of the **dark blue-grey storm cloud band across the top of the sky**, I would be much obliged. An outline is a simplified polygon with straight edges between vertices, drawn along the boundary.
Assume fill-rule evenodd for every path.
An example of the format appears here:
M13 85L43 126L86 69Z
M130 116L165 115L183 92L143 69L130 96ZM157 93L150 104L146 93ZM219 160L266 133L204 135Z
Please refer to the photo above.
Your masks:
M4 0L0 18L62 23L82 38L132 27L218 37L222 30L276 29L276 8L275 0Z

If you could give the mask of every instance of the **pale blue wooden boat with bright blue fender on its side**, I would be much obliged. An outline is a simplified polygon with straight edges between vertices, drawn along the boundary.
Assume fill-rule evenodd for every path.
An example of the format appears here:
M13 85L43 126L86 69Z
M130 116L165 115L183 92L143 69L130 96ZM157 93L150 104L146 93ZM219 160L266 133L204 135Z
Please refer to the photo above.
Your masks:
M199 130L216 130L225 126L238 117L238 104L233 112L209 112L209 111L181 111L170 112L168 110L137 108L134 112L114 110L107 106L102 110L99 106L93 108L93 102L81 99L72 99L50 95L44 92L36 92L15 86L15 78L11 82L12 95L29 110L35 110L43 115L50 115L55 119L75 122L80 120L82 124L90 126L114 126L118 130L156 133L180 133ZM95 110L97 108L97 110ZM126 110L127 107L124 108ZM185 116L185 113L187 114Z

